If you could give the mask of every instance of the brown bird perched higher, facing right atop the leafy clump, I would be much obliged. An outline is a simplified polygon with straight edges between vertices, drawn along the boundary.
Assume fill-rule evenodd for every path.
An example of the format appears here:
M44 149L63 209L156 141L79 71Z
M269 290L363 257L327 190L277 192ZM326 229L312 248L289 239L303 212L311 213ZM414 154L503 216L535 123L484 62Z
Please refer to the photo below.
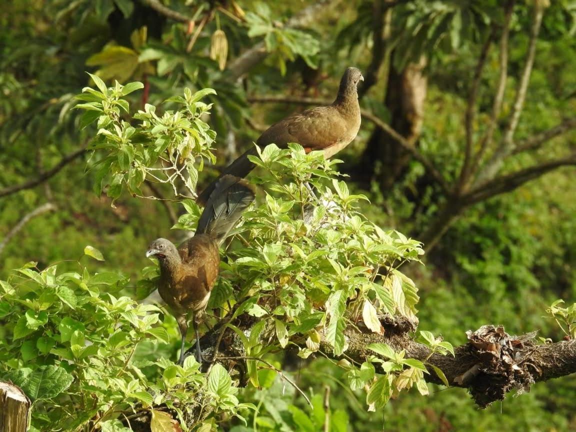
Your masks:
M309 153L322 150L324 157L329 158L346 147L356 138L360 128L360 105L358 104L358 82L364 81L362 73L355 67L348 67L342 79L338 96L332 105L306 109L272 124L256 141L260 148L268 144L276 144L286 148L289 142L300 144ZM256 156L256 147L251 147L232 164L227 166L221 176L232 174L245 177L255 165L248 156ZM206 203L214 190L218 179L204 189L196 201Z

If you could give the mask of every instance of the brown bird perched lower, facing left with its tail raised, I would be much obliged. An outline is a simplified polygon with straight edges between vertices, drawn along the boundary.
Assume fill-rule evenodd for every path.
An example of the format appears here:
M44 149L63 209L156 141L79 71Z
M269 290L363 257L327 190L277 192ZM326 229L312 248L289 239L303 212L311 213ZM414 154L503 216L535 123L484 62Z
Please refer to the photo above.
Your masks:
M158 293L168 304L180 328L180 365L184 363L184 342L190 318L196 333L196 359L202 361L198 324L218 277L218 246L253 200L253 188L246 180L223 176L200 216L194 237L177 249L171 241L157 238L146 252L147 257L156 256L160 262Z

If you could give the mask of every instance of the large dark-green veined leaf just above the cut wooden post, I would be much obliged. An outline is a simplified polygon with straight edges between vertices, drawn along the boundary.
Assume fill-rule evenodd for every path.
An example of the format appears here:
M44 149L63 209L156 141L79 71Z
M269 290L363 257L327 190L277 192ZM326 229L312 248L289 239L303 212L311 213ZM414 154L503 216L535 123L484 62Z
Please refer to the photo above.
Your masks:
M74 377L65 369L54 365L40 366L32 373L20 371L9 374L10 380L20 386L32 400L47 400L58 396L74 381Z

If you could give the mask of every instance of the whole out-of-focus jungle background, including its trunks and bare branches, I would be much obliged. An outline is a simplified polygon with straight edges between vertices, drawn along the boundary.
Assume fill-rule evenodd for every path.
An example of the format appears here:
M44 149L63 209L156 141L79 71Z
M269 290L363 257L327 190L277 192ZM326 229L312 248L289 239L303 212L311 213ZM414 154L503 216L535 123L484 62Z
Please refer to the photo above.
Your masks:
M548 308L557 299L566 304L576 299L575 2L20 0L3 2L0 26L1 374L35 373L37 367L58 366L59 358L79 365L85 359L74 346L84 346L85 338L96 340L88 334L89 317L70 319L75 324L65 323L70 328L63 336L61 320L67 312L60 305L64 302L76 311L80 294L75 294L78 304L70 304L60 295L64 291L58 291L58 307L43 308L37 302L26 306L50 285L50 279L40 281L45 269L58 264L55 278L63 272L81 277L84 272L86 281L88 273L108 275L102 276L98 293L109 289L115 300L142 300L156 271L156 264L145 257L149 242L157 237L177 242L185 237L185 229L194 229L196 219L190 215L197 217L198 207L191 200L181 205L187 197L175 195L169 181L118 177L113 174L116 162L106 162L99 153L108 151L103 141L98 141L99 150L89 147L94 137L101 137L98 130L107 126L101 119L96 125L102 112L90 116L91 108L77 107L96 104L96 99L75 98L87 86L99 88L86 72L108 87L115 80L120 85L141 82L141 89L124 97L131 113L150 104L162 116L176 109L163 101L184 96L185 88L192 94L215 90L198 96L213 104L202 119L216 132L213 142L212 135L202 135L194 150L200 156L194 160L192 155L199 169L191 174L196 175L193 190L201 191L270 124L331 103L346 67L358 67L365 78L358 90L362 126L357 138L336 156L343 162L332 169L347 176L338 179L350 194L366 196L355 205L368 221L422 242L422 263L410 255L391 264L403 264L399 270L418 287L418 328L442 335L453 346L466 343L465 332L483 324L502 324L516 335L538 331L537 338L554 342L564 338L564 330L573 334L572 318L564 325ZM118 148L108 155L116 158L127 151ZM122 157L128 158L127 165ZM118 156L120 168L132 164L132 158L130 151ZM265 186L270 180L264 169L259 170L253 176L264 178ZM184 194L192 196L190 191ZM258 202L264 200L259 192ZM266 218L248 216L244 229L256 226L257 217ZM91 248L85 249L88 245ZM271 262L281 259L276 252ZM98 260L100 253L104 260ZM225 271L241 278L241 268L234 267L232 259L225 261ZM35 263L26 268L29 262ZM14 302L10 295L16 294L9 286L24 283L20 277L28 282L38 277L39 285ZM14 309L15 304L21 309ZM249 313L262 316L262 308L256 306L260 308L254 304ZM46 317L41 316L44 310ZM146 396L143 384L162 374L154 372L156 366L150 362L173 361L179 344L173 318L158 313L165 331L156 332L156 342L142 342L124 358L128 364L135 353L134 361L141 362L139 373L146 378L133 372L132 378L120 379L126 367L119 368L119 382L85 388L100 395L101 404L71 404L63 411L67 414L54 414L50 404L64 410L84 391L80 386L71 390L79 378L66 366L76 381L69 387L70 378L60 391L35 402L33 428L124 430L130 422L113 415L110 401L118 405L134 396L126 410L165 403ZM24 314L27 321L22 324ZM99 319L98 313L93 316ZM286 328L278 327L283 321L276 320L278 349L267 353L274 367L260 371L260 382L251 375L251 384L236 395L226 389L230 406L222 403L202 421L181 423L194 430L236 432L576 429L573 375L538 382L530 392L509 394L483 410L466 389L437 384L427 385L427 396L412 388L394 394L388 403L374 405L372 400L370 406L362 389L367 384L349 385L350 374L342 364L322 355L301 363L287 358L281 349L287 343L282 340ZM16 336L18 325L24 327ZM56 329L62 337L54 336ZM298 333L290 327L290 337L292 329ZM74 338L81 339L74 344ZM192 340L190 334L188 342ZM67 341L74 354L70 358L67 347L59 345ZM167 379L170 366L158 367ZM266 375L280 369L309 395L314 410L281 379L284 375ZM187 382L180 372L173 373L172 385ZM134 377L142 388L128 388ZM202 376L188 380L201 385ZM114 386L120 388L117 393L106 393ZM54 402L65 388L72 399ZM234 416L231 406L239 404L257 408L257 414L248 405L242 408L247 423ZM51 416L62 419L76 410L88 414L52 429L56 423Z

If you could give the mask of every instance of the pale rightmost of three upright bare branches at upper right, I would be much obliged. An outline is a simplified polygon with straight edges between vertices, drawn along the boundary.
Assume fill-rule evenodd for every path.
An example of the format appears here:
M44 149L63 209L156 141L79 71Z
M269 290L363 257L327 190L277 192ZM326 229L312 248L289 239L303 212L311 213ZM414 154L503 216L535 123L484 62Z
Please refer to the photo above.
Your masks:
M524 107L524 101L526 100L526 91L528 90L528 83L530 82L530 75L532 74L532 66L534 64L534 56L536 53L536 40L538 39L538 34L540 33L540 26L542 24L542 16L544 15L544 6L535 3L534 19L532 21L532 26L530 27L530 42L528 46L528 55L526 57L526 63L524 65L524 70L522 71L522 77L520 78L520 84L518 85L518 90L516 93L516 100L514 100L514 105L512 107L512 113L510 115L510 123L504 132L504 137L502 143L498 149L494 151L490 161L483 169L479 175L479 181L484 181L486 179L491 179L502 167L504 159L512 153L514 150L514 132L518 126L518 120L520 120L520 114L522 112L522 107Z

